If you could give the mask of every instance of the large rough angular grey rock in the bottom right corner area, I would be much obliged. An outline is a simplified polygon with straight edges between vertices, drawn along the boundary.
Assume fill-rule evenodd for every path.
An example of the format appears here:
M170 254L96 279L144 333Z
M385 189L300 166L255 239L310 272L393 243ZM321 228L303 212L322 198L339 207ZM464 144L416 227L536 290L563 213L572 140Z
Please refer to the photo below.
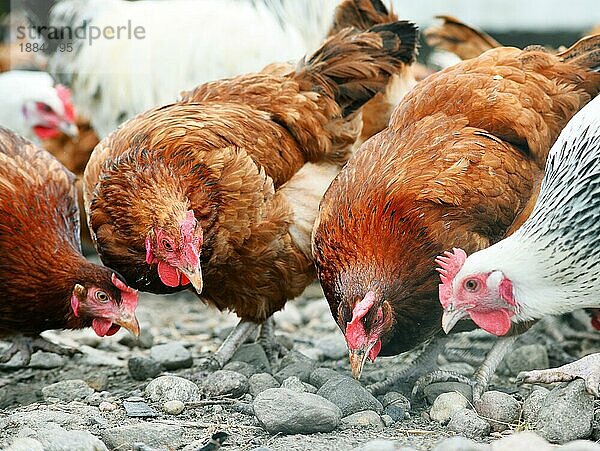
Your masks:
M538 412L537 432L552 443L587 438L592 433L594 397L582 379L552 390Z

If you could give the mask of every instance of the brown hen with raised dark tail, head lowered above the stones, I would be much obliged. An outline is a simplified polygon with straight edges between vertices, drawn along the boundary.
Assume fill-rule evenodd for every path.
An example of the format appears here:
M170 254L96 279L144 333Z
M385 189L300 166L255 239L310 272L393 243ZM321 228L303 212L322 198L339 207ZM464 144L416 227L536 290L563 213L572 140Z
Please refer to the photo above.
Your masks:
M190 287L240 325L219 364L314 280L310 233L360 107L411 61L416 27L342 30L295 70L207 83L98 144L84 175L102 261L134 287ZM267 327L268 330L268 327Z

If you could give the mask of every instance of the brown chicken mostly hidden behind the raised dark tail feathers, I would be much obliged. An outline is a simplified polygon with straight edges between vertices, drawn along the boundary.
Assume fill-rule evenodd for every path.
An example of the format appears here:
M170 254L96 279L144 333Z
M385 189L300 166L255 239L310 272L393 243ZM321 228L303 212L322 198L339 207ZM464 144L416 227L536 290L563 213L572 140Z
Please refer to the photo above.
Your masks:
M329 36L346 27L367 30L374 25L396 20L396 14L388 11L381 0L344 0L335 10ZM387 127L394 107L417 83L413 74L414 59L409 63L399 62L397 73L390 79L385 91L377 93L363 107L363 128L355 144L357 148Z

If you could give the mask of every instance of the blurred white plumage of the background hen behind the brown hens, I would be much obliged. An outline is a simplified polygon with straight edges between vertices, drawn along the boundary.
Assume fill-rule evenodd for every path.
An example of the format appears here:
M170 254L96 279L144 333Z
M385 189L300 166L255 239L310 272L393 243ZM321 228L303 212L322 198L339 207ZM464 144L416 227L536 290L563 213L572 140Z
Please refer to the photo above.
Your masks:
M62 0L53 26L127 25L144 39L77 39L49 69L100 137L200 83L296 60L326 34L337 0Z

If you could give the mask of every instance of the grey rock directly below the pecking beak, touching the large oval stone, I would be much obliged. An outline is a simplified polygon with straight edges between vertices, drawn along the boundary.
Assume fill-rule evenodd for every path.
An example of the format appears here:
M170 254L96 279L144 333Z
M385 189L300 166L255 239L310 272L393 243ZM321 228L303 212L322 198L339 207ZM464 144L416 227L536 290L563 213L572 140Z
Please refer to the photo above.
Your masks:
M342 378L325 382L317 395L333 402L348 416L363 410L381 413L383 406L366 388L354 379Z

